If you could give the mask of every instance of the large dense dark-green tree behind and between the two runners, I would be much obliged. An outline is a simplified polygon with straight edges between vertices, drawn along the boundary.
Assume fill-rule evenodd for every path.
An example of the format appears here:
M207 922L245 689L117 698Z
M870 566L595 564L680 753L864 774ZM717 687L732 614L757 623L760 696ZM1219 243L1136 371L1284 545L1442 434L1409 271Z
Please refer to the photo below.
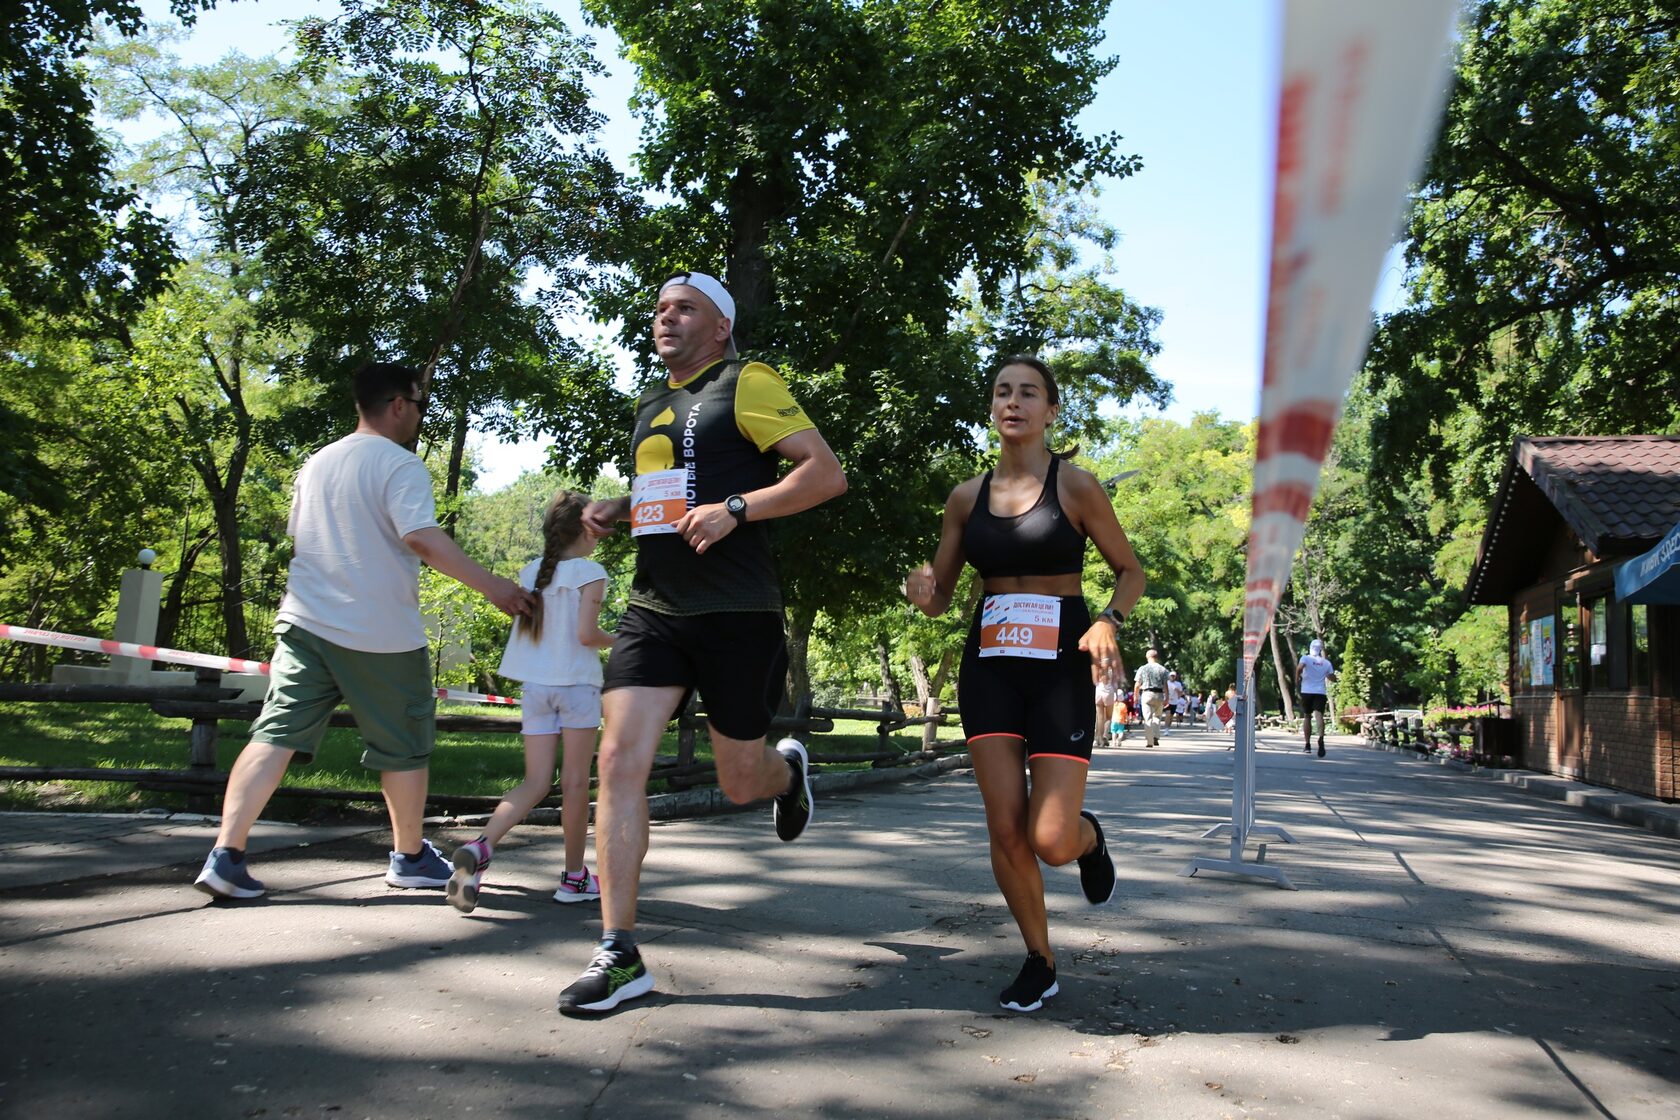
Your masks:
M640 171L665 198L623 230L600 317L652 374L654 284L721 274L743 349L786 368L848 474L847 499L780 527L800 539L783 571L795 688L816 611L894 594L973 472L988 395L956 279L973 269L995 302L1030 264L1028 175L1136 168L1075 126L1112 65L1105 7L585 2L637 65Z

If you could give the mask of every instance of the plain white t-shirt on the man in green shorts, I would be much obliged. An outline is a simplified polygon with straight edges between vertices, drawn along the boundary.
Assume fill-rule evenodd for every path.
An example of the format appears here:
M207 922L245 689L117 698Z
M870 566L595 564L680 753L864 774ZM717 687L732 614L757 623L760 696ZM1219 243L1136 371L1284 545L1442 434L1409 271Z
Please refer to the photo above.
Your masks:
M418 455L373 433L328 443L292 487L292 564L276 618L349 650L423 648L420 557L403 537L435 524Z

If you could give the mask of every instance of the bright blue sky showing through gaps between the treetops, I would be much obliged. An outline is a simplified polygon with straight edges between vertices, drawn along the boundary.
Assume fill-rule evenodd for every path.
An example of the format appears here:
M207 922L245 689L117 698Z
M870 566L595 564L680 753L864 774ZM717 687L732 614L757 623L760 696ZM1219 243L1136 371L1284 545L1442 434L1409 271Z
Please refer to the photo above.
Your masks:
M554 7L583 27L575 0ZM166 3L148 0L146 10L160 15ZM183 57L208 62L234 47L269 54L286 45L276 20L333 12L336 3L323 0L223 0L200 17ZM1258 408L1277 13L1275 0L1114 0L1104 22L1105 50L1119 64L1082 123L1119 131L1122 148L1142 156L1141 173L1104 185L1100 207L1122 238L1114 280L1163 312L1156 371L1173 386L1164 415L1174 420L1203 410L1248 420ZM610 69L596 84L610 118L603 143L625 166L637 136L625 107L630 65L608 50L601 60ZM1389 269L1383 290L1394 280ZM482 489L543 458L529 445L480 453Z

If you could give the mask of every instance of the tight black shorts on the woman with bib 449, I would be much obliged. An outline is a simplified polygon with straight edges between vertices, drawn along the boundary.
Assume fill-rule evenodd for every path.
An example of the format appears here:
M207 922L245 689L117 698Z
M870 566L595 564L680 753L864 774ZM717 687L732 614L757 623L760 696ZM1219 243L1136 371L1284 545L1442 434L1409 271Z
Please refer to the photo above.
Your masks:
M958 677L958 710L963 735L974 742L1008 735L1026 742L1026 757L1090 762L1092 727L1097 720L1097 685L1090 680L1090 655L1079 640L1090 630L1082 596L1062 596L1062 621L1053 660L979 657L979 610L963 646Z

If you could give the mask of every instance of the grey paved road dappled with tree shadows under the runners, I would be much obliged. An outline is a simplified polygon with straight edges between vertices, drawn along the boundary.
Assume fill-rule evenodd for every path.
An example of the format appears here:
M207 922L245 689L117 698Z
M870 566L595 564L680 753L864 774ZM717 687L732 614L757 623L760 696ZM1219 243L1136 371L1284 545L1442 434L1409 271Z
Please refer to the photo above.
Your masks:
M262 855L277 890L245 905L186 888L202 845L60 863L0 887L0 1115L1677 1115L1680 841L1272 741L1258 816L1300 890L1183 878L1225 850L1223 744L1099 757L1121 893L1047 873L1035 1016L996 1007L1021 949L963 771L820 794L796 845L768 809L655 824L659 989L596 1021L553 1011L600 929L548 898L556 830L514 835L472 917L388 890L381 833Z

